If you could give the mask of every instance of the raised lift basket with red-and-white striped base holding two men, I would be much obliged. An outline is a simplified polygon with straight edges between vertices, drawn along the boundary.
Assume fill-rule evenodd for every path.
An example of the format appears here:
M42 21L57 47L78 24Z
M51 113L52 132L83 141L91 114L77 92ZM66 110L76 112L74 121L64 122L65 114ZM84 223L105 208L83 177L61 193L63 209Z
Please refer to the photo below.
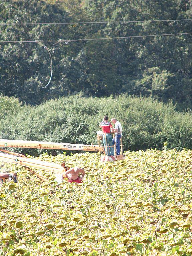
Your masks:
M107 143L107 134L111 134L112 135L112 137L113 137L113 146L110 146ZM121 138L120 138L120 154L117 155L116 136L115 136L115 134L116 134L115 132L103 133L102 131L97 131L97 141L98 141L99 149L103 149L103 147L105 148L104 155L102 154L103 151L99 150L100 161L101 162L118 161L118 160L125 159L125 156L123 155L122 135L121 135ZM108 154L108 152L111 152L111 150L110 150L111 148L113 148L114 155Z

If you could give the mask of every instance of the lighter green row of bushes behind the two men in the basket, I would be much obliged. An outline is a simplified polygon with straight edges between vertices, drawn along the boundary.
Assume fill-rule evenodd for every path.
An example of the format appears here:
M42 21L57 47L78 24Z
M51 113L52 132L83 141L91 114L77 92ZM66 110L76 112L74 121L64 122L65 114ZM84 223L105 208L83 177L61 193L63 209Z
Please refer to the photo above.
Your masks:
M2 96L0 104L4 117L1 139L95 144L99 123L107 114L122 123L125 150L162 149L165 142L167 148L192 148L191 112L179 113L171 103L164 105L152 98L126 94L116 98L85 98L79 94L30 107Z

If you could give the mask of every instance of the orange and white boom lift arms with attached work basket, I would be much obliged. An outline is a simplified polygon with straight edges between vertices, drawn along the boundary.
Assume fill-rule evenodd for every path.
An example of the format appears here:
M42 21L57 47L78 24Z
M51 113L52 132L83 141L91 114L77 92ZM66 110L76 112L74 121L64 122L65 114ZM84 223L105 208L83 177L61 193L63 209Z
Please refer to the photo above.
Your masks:
M107 156L105 155L106 149L103 145L101 145L101 136L97 134L98 145L84 145L84 144L70 144L70 143L55 143L55 142L43 142L43 141L23 141L23 140L0 140L0 147L3 148L36 148L36 149L55 149L55 150L78 150L78 151L91 151L91 152L99 152L103 154L100 158L101 162L106 161L117 161L123 160L124 155L114 155ZM114 149L116 153L116 144L114 144ZM122 148L122 140L121 140L121 152ZM0 161L7 162L11 164L21 165L29 170L32 174L35 174L38 178L43 181L48 181L45 177L38 174L33 169L41 169L44 171L49 171L57 174L64 173L67 169L65 163L61 165L56 163L50 163L45 161L40 161L36 159L30 159L26 156L14 152L7 151L5 149L0 149ZM31 169L33 168L33 169ZM0 181L5 182L6 180L13 179L14 182L17 182L17 173L9 174L9 173L0 173Z

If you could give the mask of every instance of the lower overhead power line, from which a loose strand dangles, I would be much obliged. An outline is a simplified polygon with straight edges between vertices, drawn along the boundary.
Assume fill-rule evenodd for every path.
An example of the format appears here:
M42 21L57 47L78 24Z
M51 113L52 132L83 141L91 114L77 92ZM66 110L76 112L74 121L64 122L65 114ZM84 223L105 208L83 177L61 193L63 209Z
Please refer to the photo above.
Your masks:
M109 40L109 39L127 39L127 38L139 38L139 37L155 37L155 36L174 36L174 35L189 35L192 34L192 32L184 32L184 33L171 33L171 34L157 34L157 35L141 35L141 36L122 36L122 37L101 37L101 38L84 38L84 39L64 39L59 40L58 42L53 41L46 41L49 43L55 43L54 45L58 43L66 43L69 42L78 42L78 41L93 41L93 40ZM0 41L0 43L37 43L37 42L44 42L44 40L6 40L6 41Z

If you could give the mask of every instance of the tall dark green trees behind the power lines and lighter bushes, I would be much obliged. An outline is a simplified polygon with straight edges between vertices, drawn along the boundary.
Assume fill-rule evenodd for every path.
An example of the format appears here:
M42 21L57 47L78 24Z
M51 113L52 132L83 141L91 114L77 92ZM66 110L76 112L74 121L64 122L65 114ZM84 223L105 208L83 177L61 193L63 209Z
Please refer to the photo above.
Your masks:
M192 32L191 21L17 25L18 23L190 19L191 0L4 0L0 4L0 93L40 104L82 91L97 97L153 96L192 107L192 35L77 41ZM16 23L16 25L10 25ZM56 45L54 45L56 44ZM50 77L50 59L53 59Z

